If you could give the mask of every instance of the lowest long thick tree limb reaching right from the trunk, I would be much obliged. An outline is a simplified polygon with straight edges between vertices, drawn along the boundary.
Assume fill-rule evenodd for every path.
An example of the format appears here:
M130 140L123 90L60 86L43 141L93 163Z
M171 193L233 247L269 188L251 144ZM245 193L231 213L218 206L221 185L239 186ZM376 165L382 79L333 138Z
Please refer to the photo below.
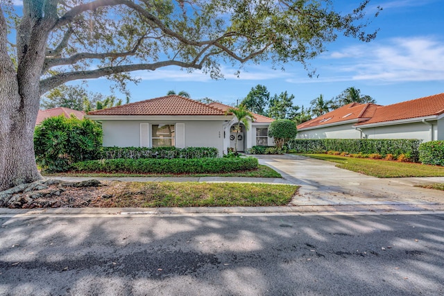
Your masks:
M168 60L164 62L155 62L153 64L126 64L122 66L105 67L96 70L89 71L73 71L68 73L60 73L50 78L46 78L40 81L40 95L48 92L54 87L58 87L65 82L79 79L92 79L99 78L103 76L110 76L112 74L118 74L123 72L137 71L137 70L151 70L167 67L167 66L178 66L182 68L193 68L202 69L204 60L200 61L199 64L193 62L180 62L176 60Z

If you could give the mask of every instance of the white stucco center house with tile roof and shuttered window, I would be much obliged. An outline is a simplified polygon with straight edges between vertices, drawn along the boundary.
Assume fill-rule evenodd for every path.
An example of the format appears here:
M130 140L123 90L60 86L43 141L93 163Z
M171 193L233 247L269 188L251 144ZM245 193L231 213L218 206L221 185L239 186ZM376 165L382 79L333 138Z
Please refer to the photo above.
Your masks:
M234 148L237 119L225 115L230 106L204 104L170 95L89 112L87 118L101 123L103 146L118 147L214 147L219 154ZM273 121L254 114L250 129L237 134L237 150L273 146L267 136Z

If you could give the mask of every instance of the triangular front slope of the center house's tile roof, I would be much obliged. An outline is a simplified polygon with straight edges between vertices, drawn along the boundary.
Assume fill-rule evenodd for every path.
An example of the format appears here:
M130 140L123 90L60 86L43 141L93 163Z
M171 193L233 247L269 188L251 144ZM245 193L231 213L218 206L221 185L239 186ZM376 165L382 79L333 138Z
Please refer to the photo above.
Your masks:
M88 115L225 115L225 112L190 98L170 95L91 111Z

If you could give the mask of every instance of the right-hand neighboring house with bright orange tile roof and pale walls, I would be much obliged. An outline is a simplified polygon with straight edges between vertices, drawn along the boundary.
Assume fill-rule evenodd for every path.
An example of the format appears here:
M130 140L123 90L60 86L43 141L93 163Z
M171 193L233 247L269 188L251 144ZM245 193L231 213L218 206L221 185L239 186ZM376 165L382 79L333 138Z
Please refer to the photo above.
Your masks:
M444 94L387 106L345 105L298 125L297 138L444 140Z

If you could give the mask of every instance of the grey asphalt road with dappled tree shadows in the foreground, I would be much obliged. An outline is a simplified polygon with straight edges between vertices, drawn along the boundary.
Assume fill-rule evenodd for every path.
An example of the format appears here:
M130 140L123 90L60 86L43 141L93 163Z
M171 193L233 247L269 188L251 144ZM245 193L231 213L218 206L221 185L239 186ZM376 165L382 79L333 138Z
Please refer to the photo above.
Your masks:
M0 295L444 295L444 214L0 225Z

